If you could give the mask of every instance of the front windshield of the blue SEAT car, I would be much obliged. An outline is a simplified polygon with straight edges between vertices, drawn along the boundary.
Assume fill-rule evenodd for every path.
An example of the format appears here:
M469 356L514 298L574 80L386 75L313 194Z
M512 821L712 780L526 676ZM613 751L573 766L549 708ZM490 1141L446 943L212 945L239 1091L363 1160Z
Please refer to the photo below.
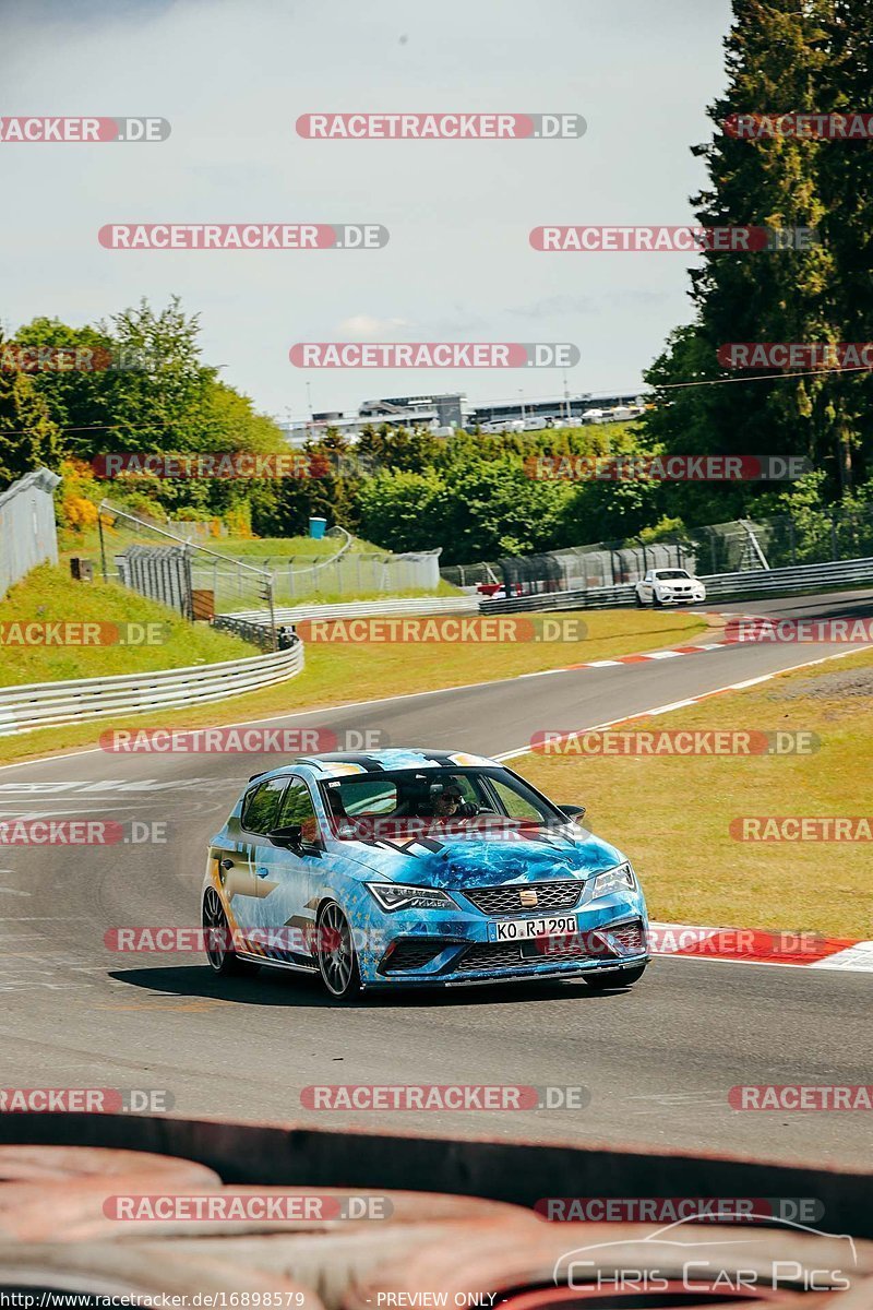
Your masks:
M398 769L321 783L334 836L346 841L420 829L554 828L556 807L504 769Z

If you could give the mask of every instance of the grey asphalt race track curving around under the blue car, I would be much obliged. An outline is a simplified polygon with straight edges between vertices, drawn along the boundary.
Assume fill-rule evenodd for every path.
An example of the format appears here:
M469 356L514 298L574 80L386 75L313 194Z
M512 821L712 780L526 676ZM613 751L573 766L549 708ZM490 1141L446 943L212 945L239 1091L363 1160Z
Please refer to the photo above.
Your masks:
M873 593L722 608L868 617ZM730 646L294 718L380 727L391 744L499 755L524 747L538 730L592 727L838 648ZM438 654L431 647L425 658ZM567 662L579 658L571 650ZM110 927L198 924L207 838L247 776L275 764L276 756L94 751L0 770L3 817L166 821L169 838L166 845L0 848L0 1085L166 1089L181 1114L249 1120L390 1123L873 1163L860 1112L728 1106L737 1083L873 1081L869 973L658 959L626 994L596 994L579 982L365 996L338 1006L313 980L288 973L220 981L199 955L109 951ZM59 790L63 783L75 787ZM357 1119L300 1104L300 1089L312 1083L398 1082L585 1085L592 1099L572 1111Z

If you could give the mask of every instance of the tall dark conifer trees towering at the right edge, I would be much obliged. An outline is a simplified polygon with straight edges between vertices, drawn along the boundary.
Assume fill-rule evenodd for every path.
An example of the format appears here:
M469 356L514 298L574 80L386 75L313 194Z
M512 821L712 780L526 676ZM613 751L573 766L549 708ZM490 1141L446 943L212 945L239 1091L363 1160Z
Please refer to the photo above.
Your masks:
M694 198L707 227L815 229L801 250L709 253L691 274L696 318L674 335L648 380L660 405L647 417L670 452L775 453L809 457L827 473L830 494L863 473L856 455L869 431L869 375L839 372L766 379L760 371L722 373L716 352L729 342L863 341L870 337L870 145L774 136L737 139L722 130L733 114L827 113L869 100L870 13L866 0L734 0L726 39L729 86L709 109L716 124L704 159L709 185ZM847 89L851 88L851 89ZM844 221L844 214L848 223ZM839 229L839 233L838 233ZM861 275L859 279L859 274ZM848 335L847 335L848 334ZM685 376L686 368L692 368ZM700 377L703 375L703 377ZM686 400L668 383L730 379L698 386ZM737 380L739 379L739 380ZM724 489L725 512L766 487ZM691 517L707 496L679 496ZM741 503L738 506L738 502Z

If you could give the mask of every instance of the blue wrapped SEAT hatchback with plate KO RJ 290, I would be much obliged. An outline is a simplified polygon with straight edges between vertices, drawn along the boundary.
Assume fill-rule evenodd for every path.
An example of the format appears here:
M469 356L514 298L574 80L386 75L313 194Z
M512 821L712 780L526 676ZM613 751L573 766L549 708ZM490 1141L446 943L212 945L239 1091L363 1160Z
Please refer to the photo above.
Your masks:
M648 964L630 862L493 760L446 751L300 756L255 774L209 844L207 955L364 988L579 976Z

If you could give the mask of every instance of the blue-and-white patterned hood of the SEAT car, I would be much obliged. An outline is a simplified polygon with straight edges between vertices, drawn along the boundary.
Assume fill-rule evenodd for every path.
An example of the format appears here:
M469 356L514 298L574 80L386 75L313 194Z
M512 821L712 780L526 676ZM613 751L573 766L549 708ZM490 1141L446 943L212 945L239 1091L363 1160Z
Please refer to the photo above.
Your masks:
M387 842L343 841L344 853L380 878L423 887L487 887L504 883L589 878L620 865L615 846L576 827L537 838L495 840L452 836L444 842L411 842L398 850Z

